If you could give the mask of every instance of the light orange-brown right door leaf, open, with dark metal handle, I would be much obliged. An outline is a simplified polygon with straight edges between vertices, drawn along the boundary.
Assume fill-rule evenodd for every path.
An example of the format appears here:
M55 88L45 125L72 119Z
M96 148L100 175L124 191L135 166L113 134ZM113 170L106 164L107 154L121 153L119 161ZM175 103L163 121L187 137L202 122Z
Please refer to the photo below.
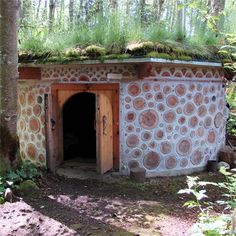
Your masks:
M100 174L113 169L113 115L112 92L97 93L97 171Z

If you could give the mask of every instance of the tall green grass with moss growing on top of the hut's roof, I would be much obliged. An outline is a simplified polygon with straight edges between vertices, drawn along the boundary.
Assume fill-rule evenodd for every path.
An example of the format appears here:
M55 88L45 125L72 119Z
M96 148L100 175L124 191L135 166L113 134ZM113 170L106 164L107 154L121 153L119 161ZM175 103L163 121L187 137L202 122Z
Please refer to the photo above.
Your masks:
M124 18L120 12L95 14L88 22L80 21L74 27L55 24L52 31L43 24L31 25L30 29L20 29L20 60L42 58L45 62L67 63L84 60L84 56L98 59L106 54L112 58L128 52L141 57L152 51L169 54L163 57L172 60L176 57L215 60L216 54L208 49L207 42L202 40L204 37L200 40L191 35L180 40L167 26L164 22L152 21L143 25L139 16Z

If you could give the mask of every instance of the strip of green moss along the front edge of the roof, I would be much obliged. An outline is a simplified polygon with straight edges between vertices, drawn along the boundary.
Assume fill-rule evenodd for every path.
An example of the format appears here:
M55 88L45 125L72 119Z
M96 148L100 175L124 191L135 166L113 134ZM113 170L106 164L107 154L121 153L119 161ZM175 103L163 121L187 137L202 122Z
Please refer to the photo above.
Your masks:
M126 48L110 48L100 45L89 45L85 48L75 47L61 52L32 53L30 51L19 52L19 62L27 63L69 63L84 60L108 60L128 58L163 58L168 60L186 61L210 61L221 62L228 58L224 53L218 53L219 49L213 46L191 46L174 41L165 42L134 42Z

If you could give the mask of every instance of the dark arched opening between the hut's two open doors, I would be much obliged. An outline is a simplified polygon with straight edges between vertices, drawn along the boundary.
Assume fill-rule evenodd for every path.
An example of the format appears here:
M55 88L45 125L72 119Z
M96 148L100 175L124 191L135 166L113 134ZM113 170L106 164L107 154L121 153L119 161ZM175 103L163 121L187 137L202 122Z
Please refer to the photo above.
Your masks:
M64 160L96 162L95 94L78 93L63 107Z

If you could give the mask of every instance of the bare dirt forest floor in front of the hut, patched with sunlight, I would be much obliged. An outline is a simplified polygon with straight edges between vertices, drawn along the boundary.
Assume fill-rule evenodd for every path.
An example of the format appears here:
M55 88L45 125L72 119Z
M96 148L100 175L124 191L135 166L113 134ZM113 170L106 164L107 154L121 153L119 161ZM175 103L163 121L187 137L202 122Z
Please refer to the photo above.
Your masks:
M185 186L186 177L135 183L120 176L104 182L48 175L34 197L0 205L0 235L189 235L197 211L183 207L189 196L176 194ZM220 195L210 192L212 201Z

